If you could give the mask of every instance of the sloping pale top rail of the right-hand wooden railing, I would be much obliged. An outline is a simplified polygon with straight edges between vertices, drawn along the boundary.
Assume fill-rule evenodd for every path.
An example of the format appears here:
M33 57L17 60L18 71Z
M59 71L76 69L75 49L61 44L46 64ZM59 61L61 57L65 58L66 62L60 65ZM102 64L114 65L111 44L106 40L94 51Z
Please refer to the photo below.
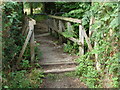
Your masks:
M68 21L68 22L81 23L81 20L76 19L76 18L68 18L68 17L61 17L61 16L54 16L54 15L48 15L48 16L51 17L51 18L64 20L64 21Z

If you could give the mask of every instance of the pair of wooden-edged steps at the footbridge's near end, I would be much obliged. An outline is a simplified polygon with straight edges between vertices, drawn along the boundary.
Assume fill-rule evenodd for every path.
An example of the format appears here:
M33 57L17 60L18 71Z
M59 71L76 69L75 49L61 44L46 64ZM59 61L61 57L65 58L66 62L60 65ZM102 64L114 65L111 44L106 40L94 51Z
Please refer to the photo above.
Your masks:
M44 73L63 73L75 71L77 63L75 62L56 62L56 63L40 63Z

